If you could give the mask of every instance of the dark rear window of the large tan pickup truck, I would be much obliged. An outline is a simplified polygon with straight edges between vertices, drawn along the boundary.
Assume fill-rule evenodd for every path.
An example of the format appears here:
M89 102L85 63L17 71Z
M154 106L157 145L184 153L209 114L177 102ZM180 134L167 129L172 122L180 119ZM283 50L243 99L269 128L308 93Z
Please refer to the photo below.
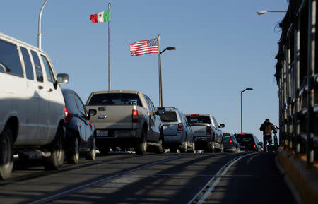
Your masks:
M141 105L138 95L132 93L101 93L93 95L88 105Z

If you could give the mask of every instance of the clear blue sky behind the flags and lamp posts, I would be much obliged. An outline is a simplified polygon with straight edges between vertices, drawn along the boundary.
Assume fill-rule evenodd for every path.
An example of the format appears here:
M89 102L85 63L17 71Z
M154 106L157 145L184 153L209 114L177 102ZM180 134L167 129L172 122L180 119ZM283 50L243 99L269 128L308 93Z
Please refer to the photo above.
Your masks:
M37 46L40 8L45 0L1 0L0 32ZM223 131L243 131L259 140L269 118L278 126L275 56L278 23L288 0L49 0L42 13L42 49L57 73L68 73L61 88L85 103L90 92L108 90L108 23L90 14L111 4L111 88L139 90L159 106L158 54L131 56L129 43L160 34L163 106L185 114L209 113Z

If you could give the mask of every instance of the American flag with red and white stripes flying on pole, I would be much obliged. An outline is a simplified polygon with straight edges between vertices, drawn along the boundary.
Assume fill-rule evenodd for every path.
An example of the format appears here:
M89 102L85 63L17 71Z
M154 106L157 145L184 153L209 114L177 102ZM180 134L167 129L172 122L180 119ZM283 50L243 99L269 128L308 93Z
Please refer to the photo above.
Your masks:
M131 56L158 53L158 38L129 44Z

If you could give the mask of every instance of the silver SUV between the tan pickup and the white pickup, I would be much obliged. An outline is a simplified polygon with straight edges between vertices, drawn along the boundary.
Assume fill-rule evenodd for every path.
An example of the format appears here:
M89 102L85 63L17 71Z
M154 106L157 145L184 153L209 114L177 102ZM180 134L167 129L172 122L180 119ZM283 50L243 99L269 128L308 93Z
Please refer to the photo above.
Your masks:
M169 148L170 152L177 152L178 149L180 152L194 152L194 133L182 112L175 107L166 107L159 115L163 121L164 147Z

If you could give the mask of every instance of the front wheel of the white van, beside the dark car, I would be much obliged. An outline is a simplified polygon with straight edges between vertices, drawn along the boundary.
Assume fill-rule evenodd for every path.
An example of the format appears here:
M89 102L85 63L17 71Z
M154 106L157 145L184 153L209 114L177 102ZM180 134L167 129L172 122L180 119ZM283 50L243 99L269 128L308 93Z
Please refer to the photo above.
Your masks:
M57 128L57 134L49 145L49 151L51 155L49 157L43 157L45 162L45 170L57 170L61 168L64 162L64 128L59 125Z

